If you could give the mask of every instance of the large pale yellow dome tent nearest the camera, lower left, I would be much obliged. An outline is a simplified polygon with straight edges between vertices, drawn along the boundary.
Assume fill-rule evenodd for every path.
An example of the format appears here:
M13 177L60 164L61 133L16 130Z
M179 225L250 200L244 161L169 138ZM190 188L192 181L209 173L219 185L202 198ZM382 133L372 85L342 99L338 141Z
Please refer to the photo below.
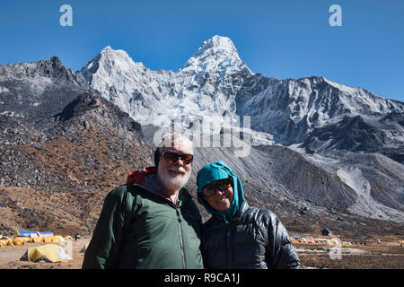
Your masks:
M29 248L20 258L21 261L32 262L66 262L73 258L66 254L64 248L55 244L47 244L39 247Z

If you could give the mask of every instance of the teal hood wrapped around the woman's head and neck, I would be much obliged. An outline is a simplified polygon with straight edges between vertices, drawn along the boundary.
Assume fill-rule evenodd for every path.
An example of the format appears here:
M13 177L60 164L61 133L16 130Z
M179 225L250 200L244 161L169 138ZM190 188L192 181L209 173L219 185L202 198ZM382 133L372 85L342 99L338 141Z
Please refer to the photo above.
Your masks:
M223 212L218 212L207 204L206 200L201 196L200 192L207 184L214 182L215 180L233 177L233 202L229 209ZM240 210L244 203L244 192L242 190L242 182L233 173L233 171L224 163L224 161L215 161L207 164L201 170L198 171L197 176L197 197L198 203L204 205L206 211L211 214L220 215L224 218L224 222L228 223L233 216Z

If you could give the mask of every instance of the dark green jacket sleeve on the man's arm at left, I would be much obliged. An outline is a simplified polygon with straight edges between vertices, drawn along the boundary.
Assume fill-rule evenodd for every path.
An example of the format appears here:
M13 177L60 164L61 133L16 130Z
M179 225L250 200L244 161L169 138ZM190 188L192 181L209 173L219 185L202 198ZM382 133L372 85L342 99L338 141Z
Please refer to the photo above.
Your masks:
M92 239L85 251L83 269L117 267L120 247L125 237L125 194L123 188L117 188L106 196Z

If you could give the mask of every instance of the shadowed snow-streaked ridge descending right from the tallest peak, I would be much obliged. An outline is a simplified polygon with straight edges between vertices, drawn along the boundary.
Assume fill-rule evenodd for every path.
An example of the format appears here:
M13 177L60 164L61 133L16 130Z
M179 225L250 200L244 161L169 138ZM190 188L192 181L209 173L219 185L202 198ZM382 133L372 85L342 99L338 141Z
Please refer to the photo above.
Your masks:
M236 96L237 114L250 115L254 129L285 145L302 143L314 128L343 117L403 113L404 103L383 99L323 77L277 80L255 74Z

